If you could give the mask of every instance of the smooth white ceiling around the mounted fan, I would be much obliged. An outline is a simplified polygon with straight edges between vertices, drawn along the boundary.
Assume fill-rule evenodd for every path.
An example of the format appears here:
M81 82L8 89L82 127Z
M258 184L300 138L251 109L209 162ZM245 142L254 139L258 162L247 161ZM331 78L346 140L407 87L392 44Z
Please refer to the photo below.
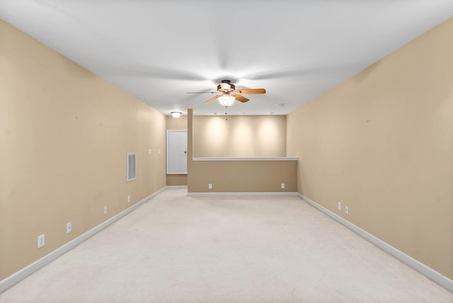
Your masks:
M0 18L168 115L286 115L453 16L453 0L0 0ZM0 40L1 42L1 40ZM283 106L279 106L283 104Z

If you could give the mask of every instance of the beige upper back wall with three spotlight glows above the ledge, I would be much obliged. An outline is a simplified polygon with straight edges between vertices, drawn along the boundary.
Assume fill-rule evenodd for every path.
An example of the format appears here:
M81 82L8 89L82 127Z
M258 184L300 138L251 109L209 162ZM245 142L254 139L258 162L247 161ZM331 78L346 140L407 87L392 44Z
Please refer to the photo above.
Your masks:
M286 116L194 116L195 157L286 156Z

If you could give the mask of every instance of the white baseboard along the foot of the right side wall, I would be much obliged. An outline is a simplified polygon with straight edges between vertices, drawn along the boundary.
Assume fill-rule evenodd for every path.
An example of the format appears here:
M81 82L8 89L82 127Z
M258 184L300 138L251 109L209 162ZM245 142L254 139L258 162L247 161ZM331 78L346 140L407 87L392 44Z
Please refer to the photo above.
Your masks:
M335 212L331 212L326 207L319 205L318 203L314 202L313 200L310 200L310 198L307 198L306 196L301 195L300 193L298 193L297 196L299 198L301 198L302 200L306 201L307 203L309 203L310 205L316 207L318 210L321 210L321 212L328 215L332 219L336 220L340 224L343 224L345 227L348 227L348 229L351 229L356 234L359 234L360 236L364 237L368 241L372 242L372 244L378 246L379 248L386 251L387 253L390 253L391 256L394 256L399 261L406 263L406 265L417 270L422 275L425 275L425 277L436 282L438 285L445 287L450 292L453 292L453 280L449 279L448 277L445 277L445 275L442 275L441 273L437 272L436 270L433 270L432 268L428 267L427 265L420 263L420 261L417 261L414 258L412 258L411 256L406 255L406 253L399 251L398 249L387 244L386 242L382 241L381 239L377 238L376 236L369 234L369 232L361 229L360 227L357 227L357 225L352 224L348 220L343 219L343 217L340 217Z

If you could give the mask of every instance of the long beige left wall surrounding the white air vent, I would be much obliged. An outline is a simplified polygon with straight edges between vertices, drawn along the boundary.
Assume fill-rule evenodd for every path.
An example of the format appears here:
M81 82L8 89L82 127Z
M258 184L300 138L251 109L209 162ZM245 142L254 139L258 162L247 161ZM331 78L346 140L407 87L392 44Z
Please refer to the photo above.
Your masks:
M3 21L0 41L1 280L163 188L166 118Z

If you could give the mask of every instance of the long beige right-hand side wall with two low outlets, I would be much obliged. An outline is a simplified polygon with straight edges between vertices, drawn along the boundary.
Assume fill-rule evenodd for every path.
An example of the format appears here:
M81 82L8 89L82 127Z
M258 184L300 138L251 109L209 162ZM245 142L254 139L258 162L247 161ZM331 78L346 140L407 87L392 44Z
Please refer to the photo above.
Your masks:
M448 278L452 37L450 19L287 117L299 192Z

